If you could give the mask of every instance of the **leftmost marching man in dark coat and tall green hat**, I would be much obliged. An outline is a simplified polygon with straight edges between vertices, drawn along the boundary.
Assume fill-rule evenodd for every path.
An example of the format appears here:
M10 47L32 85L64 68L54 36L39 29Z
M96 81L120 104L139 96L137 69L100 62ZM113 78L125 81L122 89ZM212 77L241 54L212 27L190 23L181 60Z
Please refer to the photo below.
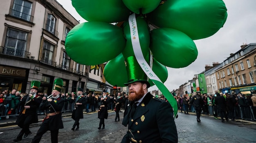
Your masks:
M36 94L40 87L39 81L31 82L31 89L29 95L26 95L20 101L21 112L16 120L16 124L22 128L14 142L21 141L24 134L26 138L29 134L32 134L29 130L29 125L32 123L38 123L37 109L42 102L40 95Z

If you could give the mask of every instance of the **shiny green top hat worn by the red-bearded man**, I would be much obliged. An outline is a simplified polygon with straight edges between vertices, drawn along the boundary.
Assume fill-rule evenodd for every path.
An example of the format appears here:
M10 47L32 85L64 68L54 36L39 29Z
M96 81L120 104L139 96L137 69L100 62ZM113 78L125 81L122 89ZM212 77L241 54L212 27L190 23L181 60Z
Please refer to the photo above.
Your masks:
M141 82L146 83L147 88L150 87L147 76L139 66L139 63L137 62L135 56L129 56L128 58L126 58L125 63L128 82L124 83L124 85L128 86L132 82Z

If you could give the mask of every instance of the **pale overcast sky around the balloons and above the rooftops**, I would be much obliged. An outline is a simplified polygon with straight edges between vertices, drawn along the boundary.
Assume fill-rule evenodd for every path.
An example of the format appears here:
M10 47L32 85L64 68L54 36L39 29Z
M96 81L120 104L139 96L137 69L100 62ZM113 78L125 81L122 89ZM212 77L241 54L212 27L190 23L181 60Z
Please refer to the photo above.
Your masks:
M72 7L71 0L57 0L76 20L86 22ZM240 45L256 43L256 0L223 0L227 7L227 21L213 36L195 40L198 48L197 59L188 67L168 69L164 85L172 91L204 71L205 65L222 63L230 53L240 50ZM177 57L179 58L179 57ZM149 91L157 90L156 86Z

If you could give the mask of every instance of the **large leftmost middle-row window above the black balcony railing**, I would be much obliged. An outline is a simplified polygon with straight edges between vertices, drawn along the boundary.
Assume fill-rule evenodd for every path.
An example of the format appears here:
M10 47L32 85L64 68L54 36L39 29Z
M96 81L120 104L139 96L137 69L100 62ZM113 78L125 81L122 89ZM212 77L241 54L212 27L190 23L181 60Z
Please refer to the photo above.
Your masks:
M4 46L4 54L13 56L26 56L26 45L27 45L27 34L26 32L8 29L6 42Z

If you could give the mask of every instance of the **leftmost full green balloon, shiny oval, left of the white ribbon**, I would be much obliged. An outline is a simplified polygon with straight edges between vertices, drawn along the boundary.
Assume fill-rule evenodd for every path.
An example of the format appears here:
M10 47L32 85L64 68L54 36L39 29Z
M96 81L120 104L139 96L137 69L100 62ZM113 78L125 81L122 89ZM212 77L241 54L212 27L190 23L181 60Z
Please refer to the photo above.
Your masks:
M122 28L105 22L76 25L67 35L65 49L77 63L97 65L115 58L125 47Z

